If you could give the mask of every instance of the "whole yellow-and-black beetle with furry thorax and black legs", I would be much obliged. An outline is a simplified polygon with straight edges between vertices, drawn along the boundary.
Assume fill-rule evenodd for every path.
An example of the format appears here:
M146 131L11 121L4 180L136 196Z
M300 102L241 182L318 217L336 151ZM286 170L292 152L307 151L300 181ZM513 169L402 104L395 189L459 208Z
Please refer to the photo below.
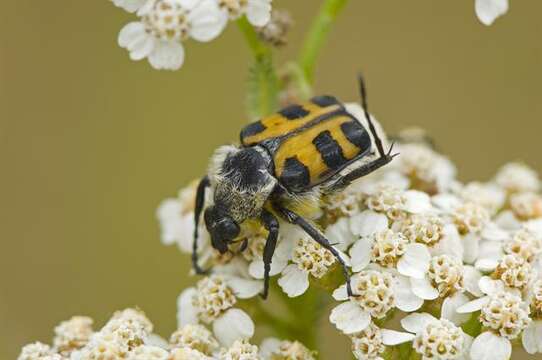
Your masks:
M198 265L198 224L204 208L205 190L213 190L213 204L203 217L211 244L221 254L239 236L246 220L259 220L267 230L263 251L265 299L269 272L279 232L278 217L303 229L329 250L340 263L347 291L353 296L348 269L324 235L294 209L307 197L341 191L352 181L389 163L395 155L385 152L367 110L367 96L359 77L361 105L369 131L332 96L318 96L290 105L277 113L245 126L240 145L222 146L212 157L207 176L197 187L192 262ZM373 144L374 142L374 144ZM366 158L378 157L371 161ZM244 244L246 247L246 243Z

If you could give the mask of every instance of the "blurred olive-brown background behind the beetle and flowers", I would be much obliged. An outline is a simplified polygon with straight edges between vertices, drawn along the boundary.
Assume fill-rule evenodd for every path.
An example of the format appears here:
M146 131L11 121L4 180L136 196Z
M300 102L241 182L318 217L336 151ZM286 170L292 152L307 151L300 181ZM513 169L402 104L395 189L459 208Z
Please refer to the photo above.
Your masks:
M295 20L281 59L296 53L317 3L275 1ZM472 0L351 1L317 92L357 100L361 69L388 132L426 128L463 179L516 159L540 169L542 2L511 6L488 28ZM237 139L249 54L231 25L188 43L180 71L158 72L116 44L133 18L105 0L2 3L1 359L50 342L74 314L102 324L138 305L158 332L174 330L189 262L160 244L154 211ZM326 334L324 355L341 358L330 349L346 350L346 339Z

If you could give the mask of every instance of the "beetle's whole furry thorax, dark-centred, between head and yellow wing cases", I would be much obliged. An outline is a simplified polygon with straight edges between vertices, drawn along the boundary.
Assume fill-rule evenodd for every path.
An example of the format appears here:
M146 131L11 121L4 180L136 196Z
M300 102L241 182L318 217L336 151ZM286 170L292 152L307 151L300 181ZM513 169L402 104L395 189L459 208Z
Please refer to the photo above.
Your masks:
M258 217L277 183L270 164L270 157L258 147L220 147L209 169L215 205L238 223Z

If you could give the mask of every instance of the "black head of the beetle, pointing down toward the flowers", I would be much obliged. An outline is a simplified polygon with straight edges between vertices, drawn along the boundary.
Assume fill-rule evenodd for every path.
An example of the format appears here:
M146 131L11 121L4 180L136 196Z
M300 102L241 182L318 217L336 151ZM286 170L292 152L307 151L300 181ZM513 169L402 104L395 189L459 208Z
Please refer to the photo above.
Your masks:
M216 206L205 209L204 218L213 247L224 254L228 251L228 245L239 236L239 224L226 211Z

